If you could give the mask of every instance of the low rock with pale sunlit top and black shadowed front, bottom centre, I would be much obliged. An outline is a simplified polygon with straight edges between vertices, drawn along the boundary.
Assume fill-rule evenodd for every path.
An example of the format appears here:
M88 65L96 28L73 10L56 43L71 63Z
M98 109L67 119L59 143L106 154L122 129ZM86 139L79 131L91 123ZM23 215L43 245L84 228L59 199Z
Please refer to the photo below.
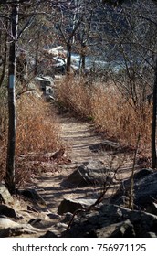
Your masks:
M74 213L77 209L84 209L95 203L95 199L66 199L64 198L58 206L58 214L66 212Z

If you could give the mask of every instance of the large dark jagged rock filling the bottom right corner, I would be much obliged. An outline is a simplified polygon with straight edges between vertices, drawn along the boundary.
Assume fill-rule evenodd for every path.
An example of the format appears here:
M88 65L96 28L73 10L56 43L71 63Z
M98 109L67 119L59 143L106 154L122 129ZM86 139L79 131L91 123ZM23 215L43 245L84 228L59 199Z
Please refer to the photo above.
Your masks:
M157 216L140 211L103 205L75 219L61 237L148 237L157 233Z

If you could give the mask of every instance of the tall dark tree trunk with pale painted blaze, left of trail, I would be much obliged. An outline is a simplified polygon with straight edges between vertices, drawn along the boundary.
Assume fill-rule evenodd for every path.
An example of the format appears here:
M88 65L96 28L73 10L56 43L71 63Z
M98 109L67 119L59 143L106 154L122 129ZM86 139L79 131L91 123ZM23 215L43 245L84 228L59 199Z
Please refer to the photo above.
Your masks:
M16 189L15 182L15 150L16 150L16 41L19 5L12 5L11 13L11 35L12 42L9 48L8 69L8 144L6 159L5 186L10 193Z

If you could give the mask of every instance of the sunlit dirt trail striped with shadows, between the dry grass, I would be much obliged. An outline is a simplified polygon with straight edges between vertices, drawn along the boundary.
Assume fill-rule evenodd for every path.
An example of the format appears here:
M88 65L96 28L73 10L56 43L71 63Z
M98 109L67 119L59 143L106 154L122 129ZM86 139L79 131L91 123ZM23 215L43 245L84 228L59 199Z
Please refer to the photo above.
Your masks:
M60 201L66 198L77 197L98 197L98 187L66 187L62 186L61 182L72 173L77 165L89 160L101 160L106 165L110 165L110 161L114 158L115 165L120 165L120 159L123 159L124 154L112 155L110 151L99 151L93 153L90 148L102 142L102 139L94 133L92 126L89 123L77 121L68 115L58 117L62 128L61 137L65 144L68 145L68 157L71 163L68 165L57 165L57 171L50 166L50 172L42 174L36 180L35 184L41 188L40 195L47 202L47 208L51 212L57 213ZM131 155L125 155L123 160L124 170L120 172L120 178L125 178L131 175Z

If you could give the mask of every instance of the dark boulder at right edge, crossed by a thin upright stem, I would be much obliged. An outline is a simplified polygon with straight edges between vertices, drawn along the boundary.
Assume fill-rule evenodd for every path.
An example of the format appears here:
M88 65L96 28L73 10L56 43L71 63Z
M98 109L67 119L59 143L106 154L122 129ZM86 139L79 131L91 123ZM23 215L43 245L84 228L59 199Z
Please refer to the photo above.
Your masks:
M121 196L130 196L131 178L122 182L120 189L111 198L110 203L115 204ZM134 205L144 209L157 199L157 172L151 169L142 169L134 176Z

